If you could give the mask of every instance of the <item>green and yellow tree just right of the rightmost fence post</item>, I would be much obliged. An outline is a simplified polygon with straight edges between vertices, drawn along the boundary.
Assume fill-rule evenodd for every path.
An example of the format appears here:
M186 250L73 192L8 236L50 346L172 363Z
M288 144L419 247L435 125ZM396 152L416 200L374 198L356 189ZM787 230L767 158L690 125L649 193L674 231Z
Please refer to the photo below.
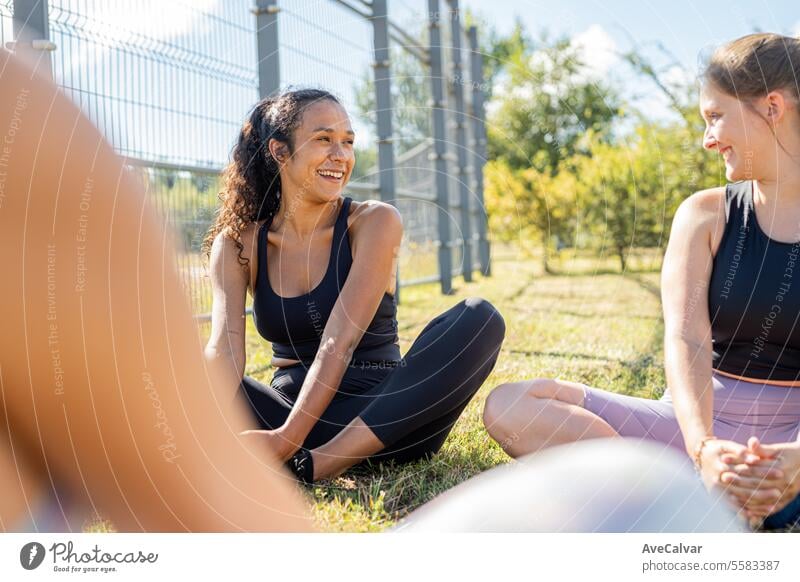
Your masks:
M574 173L577 158L591 155L593 143L612 139L620 100L611 87L587 75L568 39L550 42L543 36L535 51L530 43L510 46L516 49L498 49L509 58L499 81L509 89L498 93L487 124L489 158L498 161L486 169L487 208L494 216L513 205L520 224L506 216L494 221L492 232L513 228L501 236L524 233L541 241L549 271L553 243L576 239L583 179ZM504 199L509 196L513 204Z

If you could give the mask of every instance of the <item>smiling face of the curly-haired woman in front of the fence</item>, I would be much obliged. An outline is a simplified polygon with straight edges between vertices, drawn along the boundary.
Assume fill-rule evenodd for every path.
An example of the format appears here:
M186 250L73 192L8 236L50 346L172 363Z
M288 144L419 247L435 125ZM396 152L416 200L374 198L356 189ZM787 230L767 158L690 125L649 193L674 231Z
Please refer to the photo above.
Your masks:
M341 196L355 165L355 134L344 108L329 99L314 103L303 112L294 133L294 154L281 171L303 195L322 201Z

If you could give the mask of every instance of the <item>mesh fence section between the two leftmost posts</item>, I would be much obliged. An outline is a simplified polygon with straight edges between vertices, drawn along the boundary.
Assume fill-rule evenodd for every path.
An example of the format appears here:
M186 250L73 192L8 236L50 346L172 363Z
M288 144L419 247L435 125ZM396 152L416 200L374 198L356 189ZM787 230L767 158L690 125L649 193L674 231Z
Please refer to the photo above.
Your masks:
M200 245L218 172L258 100L249 5L50 0L49 24L56 82L128 158L176 233L194 312L208 314Z

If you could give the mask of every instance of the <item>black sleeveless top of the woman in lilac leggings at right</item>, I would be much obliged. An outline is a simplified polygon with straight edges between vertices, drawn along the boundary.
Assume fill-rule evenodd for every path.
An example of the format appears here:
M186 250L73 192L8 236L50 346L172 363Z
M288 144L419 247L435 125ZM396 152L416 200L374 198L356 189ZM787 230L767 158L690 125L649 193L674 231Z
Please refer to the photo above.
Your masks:
M708 294L713 367L759 380L797 380L800 242L778 242L761 230L750 181L726 188L725 220Z

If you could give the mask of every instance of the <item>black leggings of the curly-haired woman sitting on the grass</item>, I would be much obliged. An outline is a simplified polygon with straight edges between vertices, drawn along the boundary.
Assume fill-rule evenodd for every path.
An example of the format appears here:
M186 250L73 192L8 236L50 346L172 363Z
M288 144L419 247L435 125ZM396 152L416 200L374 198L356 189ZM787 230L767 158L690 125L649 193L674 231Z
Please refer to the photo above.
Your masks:
M429 457L494 368L504 335L505 322L491 303L460 302L431 321L399 363L348 366L303 446L328 442L360 417L386 447L375 458ZM244 377L240 394L262 429L283 425L306 372L305 364L281 368L269 386Z

